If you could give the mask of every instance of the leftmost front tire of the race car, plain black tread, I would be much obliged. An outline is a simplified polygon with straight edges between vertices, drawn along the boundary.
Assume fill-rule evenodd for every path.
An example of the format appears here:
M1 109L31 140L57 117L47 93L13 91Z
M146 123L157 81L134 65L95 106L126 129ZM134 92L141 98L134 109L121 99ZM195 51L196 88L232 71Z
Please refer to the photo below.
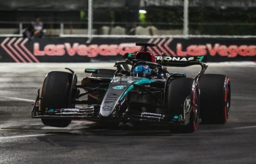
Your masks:
M72 74L61 71L52 71L46 75L42 86L40 109L46 112L47 109L75 108L71 104L70 91ZM70 119L48 119L42 118L42 122L47 126L67 127Z

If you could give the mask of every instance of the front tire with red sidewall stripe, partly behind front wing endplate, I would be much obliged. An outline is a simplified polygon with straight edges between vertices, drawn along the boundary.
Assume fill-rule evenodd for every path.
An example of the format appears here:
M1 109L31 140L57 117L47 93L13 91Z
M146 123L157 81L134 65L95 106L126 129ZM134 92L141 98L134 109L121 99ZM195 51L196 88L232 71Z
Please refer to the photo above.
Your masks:
M192 105L189 123L185 126L168 125L172 133L193 133L197 129L199 90L197 83L192 78L177 78L170 81L167 96L167 113L170 116L184 113L184 102L188 96L191 96Z

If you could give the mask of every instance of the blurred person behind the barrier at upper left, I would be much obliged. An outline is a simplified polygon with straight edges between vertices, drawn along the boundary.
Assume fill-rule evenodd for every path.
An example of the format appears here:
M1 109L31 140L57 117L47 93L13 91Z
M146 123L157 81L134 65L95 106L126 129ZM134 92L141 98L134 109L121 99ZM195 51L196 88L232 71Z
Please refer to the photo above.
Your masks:
M39 16L35 16L35 22L31 22L31 25L25 29L23 36L26 38L42 38L44 24L40 21Z

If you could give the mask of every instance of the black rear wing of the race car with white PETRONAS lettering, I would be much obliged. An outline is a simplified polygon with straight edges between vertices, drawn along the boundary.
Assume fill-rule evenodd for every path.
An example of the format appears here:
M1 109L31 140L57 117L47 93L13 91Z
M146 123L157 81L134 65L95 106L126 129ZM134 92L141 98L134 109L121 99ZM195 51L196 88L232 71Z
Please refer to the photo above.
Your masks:
M187 67L191 65L202 65L206 63L206 56L155 56L158 64L162 66Z

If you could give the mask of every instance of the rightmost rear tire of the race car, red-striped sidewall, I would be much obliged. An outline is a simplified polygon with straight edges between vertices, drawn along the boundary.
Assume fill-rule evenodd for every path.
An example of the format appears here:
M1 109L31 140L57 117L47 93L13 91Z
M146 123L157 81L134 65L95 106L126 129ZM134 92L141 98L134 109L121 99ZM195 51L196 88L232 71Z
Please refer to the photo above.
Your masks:
M225 75L203 74L199 79L200 117L206 124L225 124L230 113L230 80Z

